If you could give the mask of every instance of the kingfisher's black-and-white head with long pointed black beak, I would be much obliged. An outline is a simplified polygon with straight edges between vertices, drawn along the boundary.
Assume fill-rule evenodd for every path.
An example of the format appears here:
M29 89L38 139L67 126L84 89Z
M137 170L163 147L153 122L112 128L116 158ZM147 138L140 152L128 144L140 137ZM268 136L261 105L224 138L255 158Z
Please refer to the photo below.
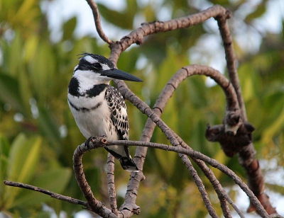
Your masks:
M109 84L111 79L142 81L136 76L114 68L114 64L99 54L83 53L79 64L74 68L73 76L90 82Z

